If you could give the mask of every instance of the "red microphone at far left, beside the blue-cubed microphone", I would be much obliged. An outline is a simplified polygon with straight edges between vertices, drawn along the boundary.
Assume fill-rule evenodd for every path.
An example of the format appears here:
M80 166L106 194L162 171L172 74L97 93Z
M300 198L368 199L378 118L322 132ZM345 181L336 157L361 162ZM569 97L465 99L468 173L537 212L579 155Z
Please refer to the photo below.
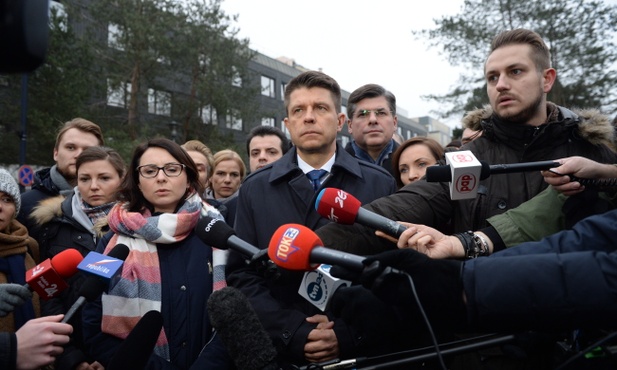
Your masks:
M77 249L65 249L26 271L24 286L44 300L51 299L68 288L64 279L75 275L83 259Z

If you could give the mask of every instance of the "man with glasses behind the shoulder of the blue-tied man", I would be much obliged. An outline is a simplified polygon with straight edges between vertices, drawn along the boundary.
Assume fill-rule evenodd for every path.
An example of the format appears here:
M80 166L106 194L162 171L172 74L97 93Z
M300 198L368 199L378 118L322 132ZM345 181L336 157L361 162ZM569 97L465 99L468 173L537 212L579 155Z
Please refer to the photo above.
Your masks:
M347 129L353 140L345 150L394 176L392 153L399 146L393 139L398 122L394 94L376 84L361 86L349 95L347 113Z

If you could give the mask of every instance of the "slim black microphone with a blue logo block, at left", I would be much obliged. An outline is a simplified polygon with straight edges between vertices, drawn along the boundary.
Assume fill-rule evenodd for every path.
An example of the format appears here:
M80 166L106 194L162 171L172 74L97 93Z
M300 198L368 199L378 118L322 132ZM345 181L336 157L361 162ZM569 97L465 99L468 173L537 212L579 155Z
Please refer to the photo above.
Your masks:
M95 300L103 294L112 281L122 273L122 264L129 255L129 247L117 244L107 255L90 252L77 268L86 273L86 279L79 287L79 298L64 315L61 322L68 322L86 302Z

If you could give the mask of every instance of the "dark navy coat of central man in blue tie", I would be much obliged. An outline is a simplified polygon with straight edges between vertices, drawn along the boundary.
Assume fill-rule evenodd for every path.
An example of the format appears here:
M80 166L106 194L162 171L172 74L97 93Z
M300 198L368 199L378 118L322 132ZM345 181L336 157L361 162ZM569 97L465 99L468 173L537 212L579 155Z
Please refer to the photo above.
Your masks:
M383 168L353 158L340 145L336 153L331 176L322 187L343 189L362 203L396 190L394 178ZM281 225L298 223L313 230L325 225L330 221L315 211L317 194L297 165L296 149L288 151L276 162L252 173L240 187L235 222L238 237L266 249ZM298 294L303 275L281 269L278 279L264 278L255 269L245 267L235 253L230 254L227 264L228 284L249 298L281 355L279 360L293 363L305 362L306 338L315 328L305 321L306 317L324 314ZM330 319L335 322L341 356L353 356L363 338L342 320Z

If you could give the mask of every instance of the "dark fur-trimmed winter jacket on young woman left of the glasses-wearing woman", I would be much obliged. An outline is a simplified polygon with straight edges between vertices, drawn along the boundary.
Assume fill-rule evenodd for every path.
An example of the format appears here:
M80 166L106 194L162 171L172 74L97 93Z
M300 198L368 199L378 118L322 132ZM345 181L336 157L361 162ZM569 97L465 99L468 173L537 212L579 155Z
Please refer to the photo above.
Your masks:
M86 256L96 249L96 242L102 236L100 230L86 229L75 220L72 201L75 193L66 198L56 196L42 200L32 212L37 229L39 230L39 248L42 259L52 258L58 253L72 248ZM43 301L42 313L44 316L66 313L71 305L79 298L79 290L85 276L77 273L66 279L69 287L58 297ZM93 359L85 352L81 328L81 315L77 313L69 322L73 325L71 342L64 346L64 352L55 362L56 370L72 370L82 362L91 363Z

